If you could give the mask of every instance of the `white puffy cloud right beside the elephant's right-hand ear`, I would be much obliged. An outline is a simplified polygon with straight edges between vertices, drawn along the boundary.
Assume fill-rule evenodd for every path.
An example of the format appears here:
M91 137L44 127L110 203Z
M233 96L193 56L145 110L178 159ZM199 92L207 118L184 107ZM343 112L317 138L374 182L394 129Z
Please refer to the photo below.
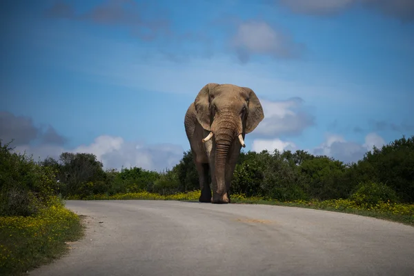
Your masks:
M300 135L305 128L315 125L315 117L304 110L304 101L299 97L286 101L260 101L265 117L255 129L255 135Z

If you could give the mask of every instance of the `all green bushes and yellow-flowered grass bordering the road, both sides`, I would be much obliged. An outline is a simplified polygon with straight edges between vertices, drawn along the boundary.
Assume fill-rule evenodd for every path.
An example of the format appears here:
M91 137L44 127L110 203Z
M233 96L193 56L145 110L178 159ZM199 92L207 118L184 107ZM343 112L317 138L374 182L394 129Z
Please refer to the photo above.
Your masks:
M171 170L104 170L89 153L34 161L0 144L0 274L49 262L80 237L79 217L63 199L197 201L190 151ZM414 226L414 136L345 164L303 150L242 152L230 190L235 204L333 210Z

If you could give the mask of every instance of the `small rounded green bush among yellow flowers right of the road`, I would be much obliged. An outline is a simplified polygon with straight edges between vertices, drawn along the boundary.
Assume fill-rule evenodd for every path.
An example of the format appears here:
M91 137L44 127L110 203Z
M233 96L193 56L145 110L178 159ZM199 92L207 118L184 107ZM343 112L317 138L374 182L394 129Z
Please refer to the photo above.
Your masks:
M365 182L357 186L355 193L350 197L358 206L372 208L379 203L397 203L398 197L395 191L382 183Z

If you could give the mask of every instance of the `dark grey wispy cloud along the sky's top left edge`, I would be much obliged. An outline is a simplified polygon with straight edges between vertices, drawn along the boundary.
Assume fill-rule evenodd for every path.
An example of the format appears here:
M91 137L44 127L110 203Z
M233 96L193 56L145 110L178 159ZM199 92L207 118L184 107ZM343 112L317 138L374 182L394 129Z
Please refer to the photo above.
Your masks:
M162 10L157 10L158 16L151 13L152 7L148 3L137 3L132 0L106 0L94 8L77 14L76 7L65 1L56 1L45 11L46 17L86 21L100 25L126 26L131 28L132 34L152 41L160 34L170 33L170 21L165 19Z

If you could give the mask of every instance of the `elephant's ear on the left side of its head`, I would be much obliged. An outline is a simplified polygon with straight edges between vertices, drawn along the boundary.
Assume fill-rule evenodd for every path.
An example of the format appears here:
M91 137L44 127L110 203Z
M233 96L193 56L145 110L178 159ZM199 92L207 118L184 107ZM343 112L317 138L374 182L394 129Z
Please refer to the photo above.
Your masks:
M194 101L196 117L205 130L210 129L210 90L219 86L218 83L208 83L201 88Z

